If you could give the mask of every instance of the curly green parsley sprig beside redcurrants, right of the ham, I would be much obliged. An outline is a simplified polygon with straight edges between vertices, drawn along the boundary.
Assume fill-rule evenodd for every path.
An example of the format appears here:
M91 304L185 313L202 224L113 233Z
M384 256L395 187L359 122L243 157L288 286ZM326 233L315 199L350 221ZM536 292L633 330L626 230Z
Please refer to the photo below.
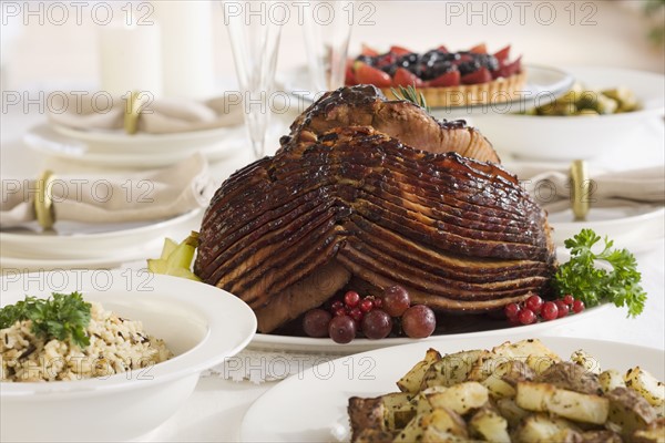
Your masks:
M617 307L626 306L628 316L642 313L646 292L640 281L635 256L627 249L612 249L614 241L604 239L605 247L600 254L592 247L601 237L592 229L582 229L573 238L565 240L571 259L561 265L554 276L554 286L561 296L571 293L586 306L596 306L602 301L612 301ZM598 269L595 260L603 260L612 270Z

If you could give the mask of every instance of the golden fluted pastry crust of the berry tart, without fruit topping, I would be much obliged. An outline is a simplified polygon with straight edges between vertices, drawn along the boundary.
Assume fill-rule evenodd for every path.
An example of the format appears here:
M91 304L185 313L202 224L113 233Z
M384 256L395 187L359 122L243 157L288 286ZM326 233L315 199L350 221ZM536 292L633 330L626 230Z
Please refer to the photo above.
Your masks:
M422 92L428 106L431 107L454 107L479 104L503 103L522 97L526 81L526 72L501 78L488 83L460 84L447 87L419 87ZM388 99L397 99L390 87L381 89Z

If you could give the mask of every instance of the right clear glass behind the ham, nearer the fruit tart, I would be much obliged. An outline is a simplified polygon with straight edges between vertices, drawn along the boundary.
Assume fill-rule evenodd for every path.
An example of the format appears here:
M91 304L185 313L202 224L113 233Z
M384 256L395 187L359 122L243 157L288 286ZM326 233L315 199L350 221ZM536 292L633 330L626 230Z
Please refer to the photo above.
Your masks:
M354 20L354 1L309 1L304 14L311 93L344 86Z

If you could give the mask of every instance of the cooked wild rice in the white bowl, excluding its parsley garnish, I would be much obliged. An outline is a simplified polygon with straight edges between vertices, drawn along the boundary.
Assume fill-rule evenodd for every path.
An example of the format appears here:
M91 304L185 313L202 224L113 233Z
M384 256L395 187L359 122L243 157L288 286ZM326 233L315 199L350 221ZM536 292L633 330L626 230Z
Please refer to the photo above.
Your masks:
M75 340L44 338L32 320L0 329L0 381L40 382L108 377L163 362L173 357L161 339L132 321L90 302L85 328L89 346Z

